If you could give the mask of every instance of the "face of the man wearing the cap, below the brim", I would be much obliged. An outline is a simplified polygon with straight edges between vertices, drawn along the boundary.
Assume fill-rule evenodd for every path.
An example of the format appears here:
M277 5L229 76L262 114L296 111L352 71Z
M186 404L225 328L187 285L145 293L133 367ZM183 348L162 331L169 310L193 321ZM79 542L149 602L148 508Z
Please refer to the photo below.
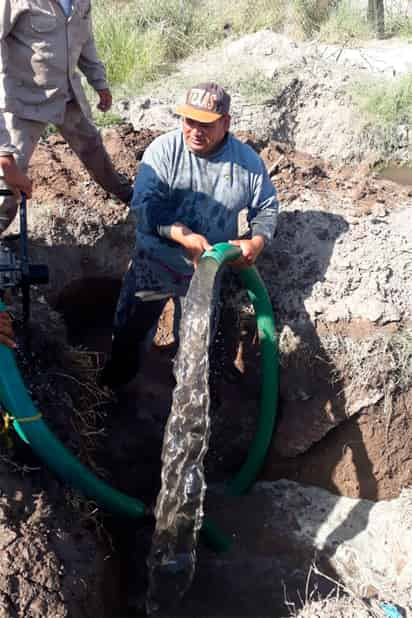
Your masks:
M215 122L198 122L191 118L183 119L183 137L187 147L201 156L217 150L230 126L230 116L225 114Z

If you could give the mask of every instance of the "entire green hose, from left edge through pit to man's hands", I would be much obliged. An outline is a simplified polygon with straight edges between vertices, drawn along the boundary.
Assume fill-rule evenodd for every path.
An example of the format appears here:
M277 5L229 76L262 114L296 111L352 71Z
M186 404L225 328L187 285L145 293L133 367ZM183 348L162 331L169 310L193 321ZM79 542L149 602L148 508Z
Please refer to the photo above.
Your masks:
M202 260L212 258L220 268L239 255L237 247L219 243L204 254ZM276 339L269 297L255 268L241 271L240 276L257 315L262 346L263 393L259 426L244 465L229 485L232 494L243 493L256 479L273 431L278 388ZM0 301L0 312L5 309ZM108 511L132 518L148 514L140 500L113 489L97 478L57 440L34 407L17 369L14 354L2 344L0 368L0 402L12 416L14 429L58 477ZM207 520L204 521L202 535L216 551L225 551L230 546L230 541Z

